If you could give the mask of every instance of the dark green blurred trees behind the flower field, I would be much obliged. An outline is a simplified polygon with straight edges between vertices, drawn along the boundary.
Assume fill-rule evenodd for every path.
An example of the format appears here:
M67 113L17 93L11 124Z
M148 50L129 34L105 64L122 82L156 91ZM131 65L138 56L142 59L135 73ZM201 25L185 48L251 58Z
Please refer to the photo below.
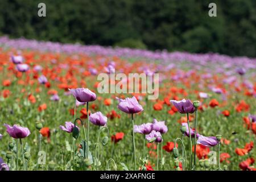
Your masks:
M256 57L255 25L255 0L0 0L10 38Z

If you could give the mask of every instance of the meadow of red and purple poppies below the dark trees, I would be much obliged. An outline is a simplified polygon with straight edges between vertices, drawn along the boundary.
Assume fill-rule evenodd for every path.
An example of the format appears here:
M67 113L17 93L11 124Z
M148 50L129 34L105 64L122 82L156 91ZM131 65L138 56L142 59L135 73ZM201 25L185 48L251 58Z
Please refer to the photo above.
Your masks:
M0 171L255 171L255 69L249 57L1 37ZM159 73L158 99L98 93L112 71Z

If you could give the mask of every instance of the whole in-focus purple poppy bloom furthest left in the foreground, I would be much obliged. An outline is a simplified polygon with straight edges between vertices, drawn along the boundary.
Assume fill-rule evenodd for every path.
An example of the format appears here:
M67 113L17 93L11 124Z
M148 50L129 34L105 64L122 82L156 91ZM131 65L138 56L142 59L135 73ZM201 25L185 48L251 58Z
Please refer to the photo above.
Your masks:
M27 127L21 127L18 125L13 125L11 127L10 125L5 124L7 133L10 135L10 137L13 138L26 138L28 135L30 135L30 130L28 130Z

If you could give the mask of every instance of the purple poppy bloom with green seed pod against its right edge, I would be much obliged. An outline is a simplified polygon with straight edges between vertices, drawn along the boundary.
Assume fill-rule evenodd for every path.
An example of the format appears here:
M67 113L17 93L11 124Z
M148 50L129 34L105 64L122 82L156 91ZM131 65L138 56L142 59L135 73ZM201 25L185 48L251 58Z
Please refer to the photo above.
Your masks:
M183 98L183 100L181 101L171 100L170 102L176 107L176 109L181 114L192 114L193 112L195 112L195 107L193 106L193 103L190 100L185 100Z

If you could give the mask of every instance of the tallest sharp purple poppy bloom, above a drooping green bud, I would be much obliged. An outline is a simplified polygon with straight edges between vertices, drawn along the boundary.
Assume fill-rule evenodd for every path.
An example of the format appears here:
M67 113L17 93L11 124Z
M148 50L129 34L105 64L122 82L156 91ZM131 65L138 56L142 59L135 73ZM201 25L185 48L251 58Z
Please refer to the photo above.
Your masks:
M69 89L69 91L79 102L92 102L96 100L96 94L87 88Z

